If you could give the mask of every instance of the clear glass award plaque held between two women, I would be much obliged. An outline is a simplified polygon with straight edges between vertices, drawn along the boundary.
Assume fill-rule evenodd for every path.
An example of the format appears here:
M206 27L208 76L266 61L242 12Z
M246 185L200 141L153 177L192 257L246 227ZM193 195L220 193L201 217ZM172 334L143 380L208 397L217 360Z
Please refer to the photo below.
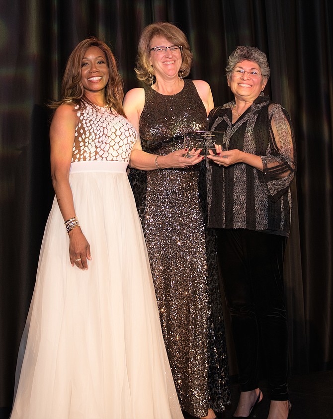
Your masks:
M223 146L223 135L225 131L185 131L184 135L184 148L190 152L193 148L196 150L202 149L200 154L207 156L209 150L214 154L215 144Z

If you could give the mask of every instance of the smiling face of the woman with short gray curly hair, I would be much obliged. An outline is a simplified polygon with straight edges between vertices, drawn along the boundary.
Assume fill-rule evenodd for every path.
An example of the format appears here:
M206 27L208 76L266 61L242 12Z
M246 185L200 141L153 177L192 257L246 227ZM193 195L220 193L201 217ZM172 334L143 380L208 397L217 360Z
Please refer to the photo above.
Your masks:
M240 70L243 70L244 74L239 73ZM259 76L255 77L255 74L251 75L251 72ZM266 80L262 78L260 67L255 62L244 60L234 67L229 83L235 97L253 102L265 87Z

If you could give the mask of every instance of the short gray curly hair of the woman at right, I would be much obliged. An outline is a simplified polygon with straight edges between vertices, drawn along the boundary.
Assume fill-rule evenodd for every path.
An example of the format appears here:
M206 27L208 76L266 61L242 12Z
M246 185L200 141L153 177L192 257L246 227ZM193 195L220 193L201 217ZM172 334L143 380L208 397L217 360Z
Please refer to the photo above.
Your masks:
M233 51L229 56L228 65L226 67L226 76L228 81L230 81L232 72L237 64L244 60L249 60L256 63L260 68L262 79L266 82L268 81L270 70L266 54L256 47L245 46L237 47L235 51Z

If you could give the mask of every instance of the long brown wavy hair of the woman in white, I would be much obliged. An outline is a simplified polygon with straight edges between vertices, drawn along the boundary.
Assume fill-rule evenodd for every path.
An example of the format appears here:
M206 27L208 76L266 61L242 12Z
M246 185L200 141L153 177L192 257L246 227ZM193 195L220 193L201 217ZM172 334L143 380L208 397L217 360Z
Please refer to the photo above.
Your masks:
M57 108L62 103L71 103L84 109L90 101L84 95L84 88L81 82L81 65L85 52L90 47L98 47L105 55L109 72L109 80L105 86L106 107L112 108L120 115L125 116L123 109L124 83L118 72L116 59L111 49L105 42L92 36L81 41L69 56L61 85L61 100L50 102L51 108ZM93 104L90 103L92 106Z

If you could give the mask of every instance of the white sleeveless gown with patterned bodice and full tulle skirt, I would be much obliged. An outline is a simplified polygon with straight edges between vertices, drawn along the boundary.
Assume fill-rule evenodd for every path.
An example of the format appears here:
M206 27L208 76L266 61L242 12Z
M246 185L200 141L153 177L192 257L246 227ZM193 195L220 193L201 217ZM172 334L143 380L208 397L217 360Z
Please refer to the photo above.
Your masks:
M107 108L78 116L69 179L92 260L71 266L55 198L10 418L183 419L126 173L137 132Z

